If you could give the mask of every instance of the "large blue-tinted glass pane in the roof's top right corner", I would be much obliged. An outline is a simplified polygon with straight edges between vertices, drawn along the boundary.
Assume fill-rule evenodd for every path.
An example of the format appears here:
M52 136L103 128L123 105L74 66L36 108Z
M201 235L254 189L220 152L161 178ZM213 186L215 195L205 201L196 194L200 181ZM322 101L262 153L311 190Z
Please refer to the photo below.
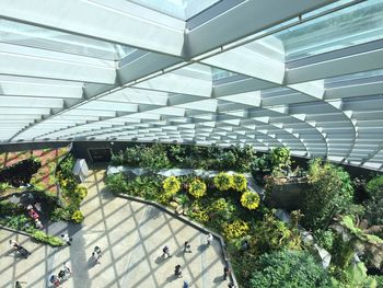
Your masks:
M303 15L304 18L304 15ZM383 2L369 0L269 37L277 37L285 46L286 61L318 55L383 36Z

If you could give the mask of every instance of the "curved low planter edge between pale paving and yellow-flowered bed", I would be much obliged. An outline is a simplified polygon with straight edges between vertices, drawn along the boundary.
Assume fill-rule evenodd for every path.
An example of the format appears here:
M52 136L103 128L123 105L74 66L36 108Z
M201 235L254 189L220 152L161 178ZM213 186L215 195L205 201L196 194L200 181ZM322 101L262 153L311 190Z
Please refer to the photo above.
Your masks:
M147 199L143 199L141 197L135 197L135 196L119 194L119 193L114 193L114 195L117 196L117 197L124 198L124 199L134 200L134 201L142 203L142 204L146 204L146 205L154 206L155 208L158 208L158 209L160 209L160 210L171 215L172 217L176 218L177 220L183 221L184 223L186 223L186 224L188 224L188 226L190 226L190 227L201 231L205 234L211 233L216 239L219 240L219 243L221 245L223 260L224 260L225 264L231 269L231 274L230 274L231 281L235 285L235 287L239 287L239 284L236 281L235 275L233 273L233 267L232 267L232 264L231 264L231 261L230 261L230 257L229 257L229 253L227 251L227 244L225 244L223 238L220 234L218 234L218 233L216 233L213 231L210 231L209 229L207 229L206 227L204 227L200 223L197 223L195 221L189 220L189 218L187 218L187 217L185 217L183 215L178 215L178 214L174 212L172 209L170 209L166 206L161 205L161 204L159 204L156 201L147 200Z

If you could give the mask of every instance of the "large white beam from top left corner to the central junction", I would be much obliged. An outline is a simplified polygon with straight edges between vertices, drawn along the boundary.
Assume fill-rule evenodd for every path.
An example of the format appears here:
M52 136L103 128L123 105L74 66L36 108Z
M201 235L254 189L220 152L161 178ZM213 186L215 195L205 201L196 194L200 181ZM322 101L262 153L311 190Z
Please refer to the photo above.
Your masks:
M138 48L181 56L184 32L84 0L2 0L0 16Z

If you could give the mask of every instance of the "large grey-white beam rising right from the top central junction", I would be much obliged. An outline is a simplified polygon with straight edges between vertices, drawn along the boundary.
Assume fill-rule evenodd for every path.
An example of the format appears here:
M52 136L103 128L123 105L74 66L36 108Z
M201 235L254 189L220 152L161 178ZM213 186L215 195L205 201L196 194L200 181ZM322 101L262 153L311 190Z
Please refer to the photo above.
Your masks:
M243 1L187 33L189 58L279 24L333 0Z

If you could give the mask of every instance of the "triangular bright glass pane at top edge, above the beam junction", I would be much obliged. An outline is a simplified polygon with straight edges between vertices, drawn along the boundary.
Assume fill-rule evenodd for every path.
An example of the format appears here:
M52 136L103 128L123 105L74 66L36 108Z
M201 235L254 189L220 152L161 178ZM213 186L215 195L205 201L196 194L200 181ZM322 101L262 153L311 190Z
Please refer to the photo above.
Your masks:
M129 0L182 20L188 20L220 0Z

